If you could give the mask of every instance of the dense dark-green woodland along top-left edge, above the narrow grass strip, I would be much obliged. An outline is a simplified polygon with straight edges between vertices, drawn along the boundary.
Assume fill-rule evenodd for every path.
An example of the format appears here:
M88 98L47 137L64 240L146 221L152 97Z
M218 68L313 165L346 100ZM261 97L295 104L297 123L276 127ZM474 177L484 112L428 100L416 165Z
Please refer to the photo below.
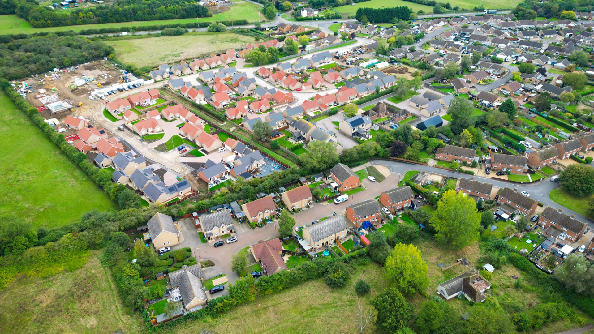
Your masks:
M14 1L14 0L13 0ZM12 2L14 12L35 28L74 26L77 24L130 21L171 20L173 18L210 17L206 7L188 0L118 0L109 5L55 11L36 2Z

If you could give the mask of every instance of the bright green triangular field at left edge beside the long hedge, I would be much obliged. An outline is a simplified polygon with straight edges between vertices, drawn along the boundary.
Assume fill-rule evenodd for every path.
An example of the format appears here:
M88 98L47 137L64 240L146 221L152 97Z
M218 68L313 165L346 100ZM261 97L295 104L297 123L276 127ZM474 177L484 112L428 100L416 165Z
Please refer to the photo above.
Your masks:
M17 215L35 228L53 228L93 209L118 208L4 93L0 106L0 141L15 143L0 147L0 214Z

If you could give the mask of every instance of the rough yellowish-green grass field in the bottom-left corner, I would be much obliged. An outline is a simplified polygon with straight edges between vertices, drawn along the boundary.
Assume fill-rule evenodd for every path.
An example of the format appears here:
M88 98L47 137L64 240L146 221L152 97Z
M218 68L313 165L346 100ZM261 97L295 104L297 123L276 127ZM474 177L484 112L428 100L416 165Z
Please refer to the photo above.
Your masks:
M21 276L0 295L2 333L138 333L94 251L74 272L43 279ZM10 310L10 311L8 311Z

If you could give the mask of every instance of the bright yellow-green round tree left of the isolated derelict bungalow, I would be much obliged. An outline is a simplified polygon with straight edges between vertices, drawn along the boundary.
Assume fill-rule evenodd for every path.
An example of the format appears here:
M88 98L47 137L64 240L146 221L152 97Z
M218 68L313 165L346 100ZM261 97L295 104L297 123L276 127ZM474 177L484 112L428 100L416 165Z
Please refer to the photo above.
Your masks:
M386 279L403 294L422 293L429 285L429 267L421 258L421 251L414 245L397 244L384 267Z

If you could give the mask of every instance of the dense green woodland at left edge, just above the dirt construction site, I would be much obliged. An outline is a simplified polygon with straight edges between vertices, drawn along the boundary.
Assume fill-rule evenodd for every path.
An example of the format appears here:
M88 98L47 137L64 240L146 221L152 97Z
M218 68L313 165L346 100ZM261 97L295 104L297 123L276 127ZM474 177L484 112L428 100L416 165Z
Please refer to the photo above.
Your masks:
M5 40L8 40L7 36ZM64 68L113 53L104 42L84 37L44 37L13 39L0 45L0 77L8 80L39 74L52 68ZM42 120L43 121L43 120Z

